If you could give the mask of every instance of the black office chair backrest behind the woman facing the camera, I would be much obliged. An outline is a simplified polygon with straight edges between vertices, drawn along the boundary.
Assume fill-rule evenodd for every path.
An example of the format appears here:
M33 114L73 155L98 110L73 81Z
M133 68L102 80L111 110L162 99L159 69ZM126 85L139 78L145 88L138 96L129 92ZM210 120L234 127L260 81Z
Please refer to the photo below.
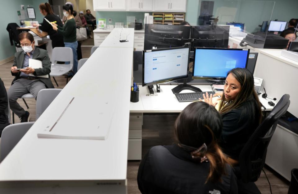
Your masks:
M241 179L244 183L255 182L260 177L265 164L267 147L277 126L278 119L287 112L289 105L290 95L285 94L242 148L239 165Z

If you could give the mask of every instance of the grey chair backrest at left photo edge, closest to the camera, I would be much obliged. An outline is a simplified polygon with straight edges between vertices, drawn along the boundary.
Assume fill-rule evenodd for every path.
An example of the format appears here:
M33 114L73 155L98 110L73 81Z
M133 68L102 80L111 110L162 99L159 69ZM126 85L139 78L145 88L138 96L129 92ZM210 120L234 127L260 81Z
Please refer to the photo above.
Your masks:
M0 161L3 161L33 124L34 122L16 123L3 129L0 141Z

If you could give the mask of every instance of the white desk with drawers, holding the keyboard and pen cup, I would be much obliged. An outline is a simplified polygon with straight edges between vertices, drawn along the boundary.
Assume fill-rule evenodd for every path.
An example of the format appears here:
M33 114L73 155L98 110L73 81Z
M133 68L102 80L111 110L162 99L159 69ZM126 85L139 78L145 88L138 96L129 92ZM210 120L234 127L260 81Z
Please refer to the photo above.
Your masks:
M139 88L139 101L136 103L130 102L130 120L129 120L129 160L142 159L142 118L143 113L161 113L161 112L181 112L188 104L192 102L178 102L176 96L172 92L172 88L177 85L160 85L160 93L156 93L156 86L154 86L154 94L157 96L146 96L149 94L147 86ZM199 87L202 91L211 91L210 85L194 85ZM183 90L182 92L192 92L190 90ZM261 95L260 95L261 96ZM218 97L214 97L214 100ZM266 111L272 110L268 101L260 97L260 102L266 107ZM276 102L275 102L276 103ZM217 105L218 106L218 105ZM216 107L217 108L217 107ZM264 110L262 108L262 110Z

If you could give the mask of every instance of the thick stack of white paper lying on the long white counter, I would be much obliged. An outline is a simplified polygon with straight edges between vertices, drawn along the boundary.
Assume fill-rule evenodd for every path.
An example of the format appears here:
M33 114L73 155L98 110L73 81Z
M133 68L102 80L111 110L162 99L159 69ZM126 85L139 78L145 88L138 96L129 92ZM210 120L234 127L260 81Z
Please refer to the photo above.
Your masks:
M88 100L73 97L65 103L65 108L49 119L45 128L40 129L38 138L93 139L105 140L112 124L115 103L108 99ZM92 108L91 108L92 107Z

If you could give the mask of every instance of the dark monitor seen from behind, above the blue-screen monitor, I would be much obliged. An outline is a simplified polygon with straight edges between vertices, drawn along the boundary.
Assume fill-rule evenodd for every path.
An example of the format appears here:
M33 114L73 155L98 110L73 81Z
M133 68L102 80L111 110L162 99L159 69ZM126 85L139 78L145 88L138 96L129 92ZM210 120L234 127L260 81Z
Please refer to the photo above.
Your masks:
M228 48L230 26L192 26L193 47Z

